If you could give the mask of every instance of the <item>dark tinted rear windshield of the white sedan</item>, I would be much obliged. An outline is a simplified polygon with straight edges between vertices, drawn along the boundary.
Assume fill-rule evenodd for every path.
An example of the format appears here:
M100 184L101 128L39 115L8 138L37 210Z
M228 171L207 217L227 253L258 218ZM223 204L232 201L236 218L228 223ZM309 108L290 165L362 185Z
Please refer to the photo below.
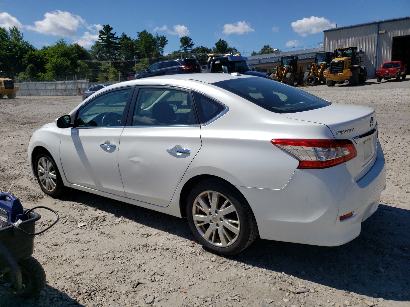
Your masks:
M330 104L297 88L260 77L225 80L212 84L275 113L309 111Z

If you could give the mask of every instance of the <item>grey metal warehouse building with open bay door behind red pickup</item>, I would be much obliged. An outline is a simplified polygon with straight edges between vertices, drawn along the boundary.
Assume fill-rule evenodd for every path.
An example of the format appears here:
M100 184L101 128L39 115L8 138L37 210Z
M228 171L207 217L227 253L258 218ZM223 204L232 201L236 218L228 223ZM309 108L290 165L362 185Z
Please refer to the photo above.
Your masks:
M376 70L388 61L403 61L410 68L410 16L361 23L323 31L325 51L356 46L362 48L362 66L367 78L376 78Z

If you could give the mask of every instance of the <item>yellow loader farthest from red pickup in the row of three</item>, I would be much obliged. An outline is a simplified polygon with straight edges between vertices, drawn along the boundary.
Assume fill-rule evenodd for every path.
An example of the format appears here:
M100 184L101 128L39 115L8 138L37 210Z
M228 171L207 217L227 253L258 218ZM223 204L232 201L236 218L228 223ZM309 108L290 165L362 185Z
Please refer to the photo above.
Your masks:
M272 80L293 86L295 81L298 85L303 82L303 67L298 64L297 55L287 55L280 58L281 64L276 66L275 74L271 74Z

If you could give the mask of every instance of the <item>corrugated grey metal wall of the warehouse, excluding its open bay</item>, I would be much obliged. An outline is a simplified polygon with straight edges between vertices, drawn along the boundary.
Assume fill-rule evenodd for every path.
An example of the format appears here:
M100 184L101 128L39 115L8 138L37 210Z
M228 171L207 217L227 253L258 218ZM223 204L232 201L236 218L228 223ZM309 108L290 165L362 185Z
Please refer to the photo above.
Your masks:
M386 32L378 34L378 31L383 30ZM392 38L404 35L410 35L410 19L326 31L323 32L323 42L325 51L330 52L340 47L362 48L364 52L362 65L367 68L367 78L376 78L376 70L384 62L391 61ZM378 45L377 53L376 45Z

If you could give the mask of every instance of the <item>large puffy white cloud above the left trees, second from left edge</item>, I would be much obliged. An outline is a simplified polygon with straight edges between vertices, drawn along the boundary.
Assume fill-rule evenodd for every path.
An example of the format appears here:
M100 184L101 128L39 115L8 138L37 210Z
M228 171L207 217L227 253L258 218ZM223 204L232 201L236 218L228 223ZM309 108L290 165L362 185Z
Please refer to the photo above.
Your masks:
M82 26L87 26L87 24L80 16L57 10L44 14L44 19L34 21L34 26L26 27L46 35L75 36L77 29Z

